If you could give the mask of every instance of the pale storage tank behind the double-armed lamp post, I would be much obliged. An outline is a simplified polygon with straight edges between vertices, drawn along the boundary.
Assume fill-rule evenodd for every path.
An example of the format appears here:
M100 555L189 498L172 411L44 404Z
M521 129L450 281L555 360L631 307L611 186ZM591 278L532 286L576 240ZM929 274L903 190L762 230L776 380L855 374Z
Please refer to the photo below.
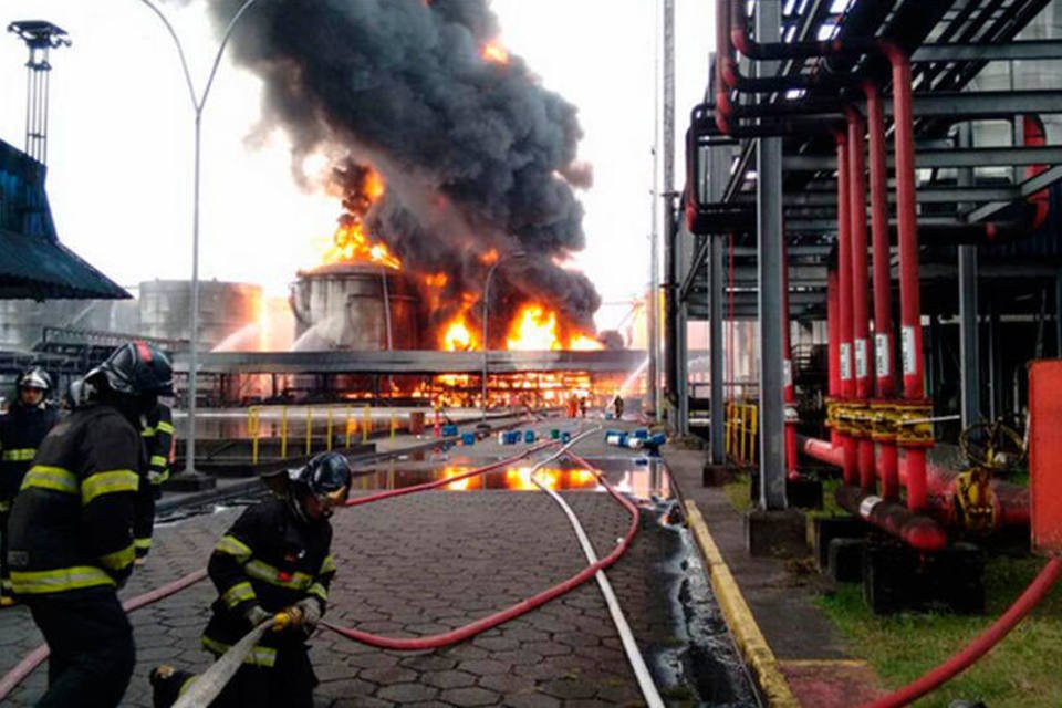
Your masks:
M191 281L140 283L140 333L169 340L191 339ZM262 288L251 283L199 281L199 348L207 351L241 327L258 322Z

